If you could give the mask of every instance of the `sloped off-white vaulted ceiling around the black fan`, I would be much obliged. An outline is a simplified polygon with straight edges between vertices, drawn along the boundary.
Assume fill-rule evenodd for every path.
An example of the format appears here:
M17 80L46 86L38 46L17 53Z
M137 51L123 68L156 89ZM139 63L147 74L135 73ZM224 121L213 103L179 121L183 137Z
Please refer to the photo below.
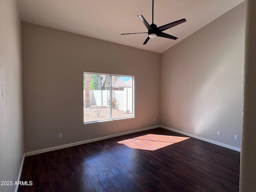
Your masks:
M18 0L21 20L92 38L162 53L244 0L154 0L154 24L186 18L165 33L178 37L150 39L137 15L152 23L152 0Z

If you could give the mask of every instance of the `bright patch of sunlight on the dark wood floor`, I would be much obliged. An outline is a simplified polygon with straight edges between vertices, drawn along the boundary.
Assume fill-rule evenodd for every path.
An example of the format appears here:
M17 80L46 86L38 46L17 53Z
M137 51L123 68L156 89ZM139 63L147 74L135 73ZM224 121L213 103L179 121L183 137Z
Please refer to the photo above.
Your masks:
M126 140L119 141L119 144L124 144L130 148L144 149L144 150L157 150L174 143L178 143L189 139L189 137L169 136L147 134L139 137L134 137Z

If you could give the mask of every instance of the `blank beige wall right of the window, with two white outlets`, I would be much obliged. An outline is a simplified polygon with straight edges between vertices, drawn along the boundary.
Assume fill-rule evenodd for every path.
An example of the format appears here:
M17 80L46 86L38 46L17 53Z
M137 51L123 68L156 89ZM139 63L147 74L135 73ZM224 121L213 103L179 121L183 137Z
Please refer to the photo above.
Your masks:
M162 54L163 126L240 148L245 10L243 2Z

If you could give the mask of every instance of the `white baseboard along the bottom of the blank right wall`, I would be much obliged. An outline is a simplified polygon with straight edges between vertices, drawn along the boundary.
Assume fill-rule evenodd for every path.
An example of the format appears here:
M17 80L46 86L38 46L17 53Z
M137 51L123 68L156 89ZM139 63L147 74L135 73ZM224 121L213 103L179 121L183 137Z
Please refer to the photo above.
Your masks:
M227 144L224 144L224 143L220 143L220 142L217 142L217 141L206 139L206 138L203 138L203 137L200 137L200 136L192 135L192 134L189 134L189 133L186 133L186 132L183 132L183 131L179 131L179 130L176 130L176 129L172 129L172 128L169 128L169 127L166 127L166 126L160 125L159 127L170 130L170 131L173 131L173 132L177 132L177 133L180 133L180 134L183 134L183 135L186 135L186 136L190 136L190 137L202 140L202 141L206 141L208 143L216 144L218 146L222 146L222 147L225 147L225 148L228 148L228 149L232 149L232 150L241 152L240 148L237 148L237 147L234 147L234 146L230 146L230 145L227 145Z

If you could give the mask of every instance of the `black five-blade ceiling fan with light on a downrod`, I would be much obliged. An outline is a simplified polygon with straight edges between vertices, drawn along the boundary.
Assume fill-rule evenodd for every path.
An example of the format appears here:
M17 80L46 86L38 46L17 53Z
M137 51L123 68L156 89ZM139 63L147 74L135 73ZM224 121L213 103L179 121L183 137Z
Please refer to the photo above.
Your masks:
M146 21L146 19L142 15L138 15L138 17L144 23L146 28L148 28L148 32L142 32L142 33L147 33L148 34L148 37L146 38L146 40L143 43L144 45L146 45L146 43L148 42L148 40L150 38L155 38L156 36L169 38L169 39L174 39L174 40L178 39L177 37L166 34L163 31L166 30L166 29L169 29L171 27L174 27L178 24L181 24L183 22L186 22L186 19L181 19L181 20L174 21L174 22L165 24L163 26L157 27L156 24L154 24L154 0L152 0L152 24L151 25L148 24L148 22ZM140 34L140 33L123 33L121 35L129 35L129 34Z

